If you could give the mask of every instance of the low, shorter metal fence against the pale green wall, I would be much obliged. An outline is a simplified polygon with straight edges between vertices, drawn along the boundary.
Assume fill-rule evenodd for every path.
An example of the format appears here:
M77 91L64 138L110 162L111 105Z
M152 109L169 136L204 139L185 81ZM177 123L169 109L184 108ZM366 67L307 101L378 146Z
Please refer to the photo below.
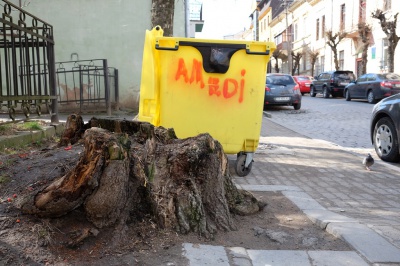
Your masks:
M101 111L111 115L118 109L118 70L106 59L56 63L57 95L60 110Z

